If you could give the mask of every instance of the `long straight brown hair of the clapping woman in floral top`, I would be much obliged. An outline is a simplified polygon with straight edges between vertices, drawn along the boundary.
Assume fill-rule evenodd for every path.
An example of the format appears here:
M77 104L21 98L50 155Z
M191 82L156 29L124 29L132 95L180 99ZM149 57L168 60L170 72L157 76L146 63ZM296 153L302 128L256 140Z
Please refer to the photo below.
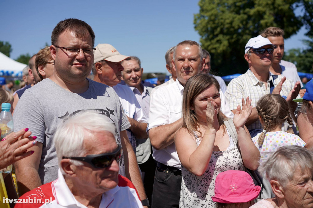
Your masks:
M202 133L198 131L199 127L199 120L193 110L191 110L191 106L194 106L194 99L205 90L207 87L214 85L219 91L219 83L218 81L209 74L197 74L187 81L184 93L182 97L182 127L186 127L187 131L194 135L193 132L198 132L200 136ZM218 112L218 124L222 126L223 130L225 128L224 124L224 117L222 114Z

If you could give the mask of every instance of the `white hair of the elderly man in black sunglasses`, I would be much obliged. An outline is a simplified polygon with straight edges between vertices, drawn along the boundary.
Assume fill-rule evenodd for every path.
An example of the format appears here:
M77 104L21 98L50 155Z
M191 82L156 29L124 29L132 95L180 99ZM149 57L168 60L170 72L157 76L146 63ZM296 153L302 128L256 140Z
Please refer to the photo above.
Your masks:
M109 118L90 110L81 111L61 122L54 135L54 146L59 166L63 156L79 157L85 154L84 139L89 137L86 136L86 132L95 134L108 131L115 135L115 129L115 125L109 121ZM71 160L71 162L75 166L83 165L80 161ZM62 168L60 170L62 174L65 174Z

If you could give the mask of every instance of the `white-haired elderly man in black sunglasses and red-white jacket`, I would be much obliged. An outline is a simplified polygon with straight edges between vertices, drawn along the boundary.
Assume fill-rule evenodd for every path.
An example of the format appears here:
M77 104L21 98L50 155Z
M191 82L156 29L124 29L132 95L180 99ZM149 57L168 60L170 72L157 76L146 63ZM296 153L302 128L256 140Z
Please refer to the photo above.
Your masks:
M118 175L115 131L112 121L93 111L64 121L54 136L58 179L25 193L20 199L28 203L15 207L142 207L135 186ZM47 203L30 204L33 198Z

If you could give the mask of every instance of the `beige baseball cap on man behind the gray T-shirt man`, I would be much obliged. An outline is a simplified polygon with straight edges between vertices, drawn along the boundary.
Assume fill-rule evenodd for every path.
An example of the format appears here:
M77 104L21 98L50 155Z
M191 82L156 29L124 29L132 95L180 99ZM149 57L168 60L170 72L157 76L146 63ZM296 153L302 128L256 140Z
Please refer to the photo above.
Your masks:
M102 60L109 62L131 60L131 57L121 55L120 52L115 49L115 47L107 43L100 43L96 46L94 57L94 64Z

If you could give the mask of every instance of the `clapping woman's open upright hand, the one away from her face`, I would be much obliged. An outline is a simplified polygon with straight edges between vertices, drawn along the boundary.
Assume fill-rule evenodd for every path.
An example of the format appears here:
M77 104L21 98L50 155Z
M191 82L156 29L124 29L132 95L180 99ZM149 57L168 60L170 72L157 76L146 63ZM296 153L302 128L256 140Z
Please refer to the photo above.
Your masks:
M242 109L240 110L240 105L237 106L236 113L233 118L233 123L236 128L244 127L244 124L248 120L252 112L251 100L247 97L246 102L242 98Z

